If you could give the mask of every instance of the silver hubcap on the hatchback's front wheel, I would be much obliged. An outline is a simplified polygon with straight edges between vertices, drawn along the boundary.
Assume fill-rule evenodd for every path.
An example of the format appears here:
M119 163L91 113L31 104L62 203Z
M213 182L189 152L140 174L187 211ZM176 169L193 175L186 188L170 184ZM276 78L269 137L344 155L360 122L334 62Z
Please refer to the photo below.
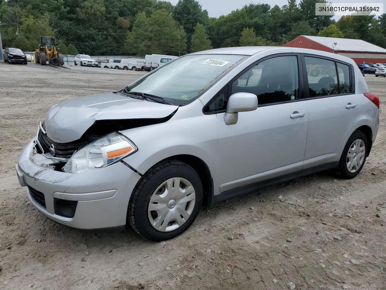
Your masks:
M147 215L154 229L171 232L190 217L196 203L193 185L186 179L174 177L162 183L152 194Z

